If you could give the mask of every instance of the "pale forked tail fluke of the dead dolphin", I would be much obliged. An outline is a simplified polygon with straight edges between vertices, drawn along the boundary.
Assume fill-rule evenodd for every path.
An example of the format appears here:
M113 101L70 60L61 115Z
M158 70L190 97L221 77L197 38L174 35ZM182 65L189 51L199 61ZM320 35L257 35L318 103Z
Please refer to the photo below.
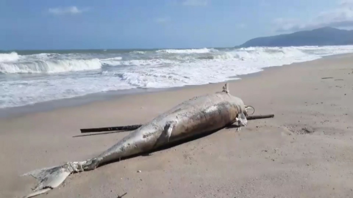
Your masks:
M32 189L34 192L23 198L34 197L58 187L71 173L83 171L82 167L86 164L87 161L68 162L62 166L37 169L23 174L22 176L31 175L38 181L38 185Z

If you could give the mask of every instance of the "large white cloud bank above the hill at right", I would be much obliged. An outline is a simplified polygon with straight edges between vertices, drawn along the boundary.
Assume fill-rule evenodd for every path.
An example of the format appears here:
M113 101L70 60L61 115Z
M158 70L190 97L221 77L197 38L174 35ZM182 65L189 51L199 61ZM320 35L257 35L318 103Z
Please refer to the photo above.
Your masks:
M320 12L306 21L277 18L273 22L279 32L311 30L325 26L353 27L353 0L340 1L336 8Z

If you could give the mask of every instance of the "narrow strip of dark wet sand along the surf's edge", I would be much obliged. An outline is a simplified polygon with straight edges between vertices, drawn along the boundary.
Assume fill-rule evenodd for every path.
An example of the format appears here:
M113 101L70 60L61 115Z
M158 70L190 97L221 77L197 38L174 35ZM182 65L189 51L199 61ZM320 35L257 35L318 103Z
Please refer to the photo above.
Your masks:
M323 56L321 58L317 58L317 59L311 60L311 61L316 61L316 60L320 60L323 58L336 58L336 57L340 57L340 56L346 56L349 54L353 54L353 53L327 55L327 56ZM264 68L261 68L261 71L259 71L259 72L238 75L238 76L231 76L229 78L238 78L238 79L235 79L235 80L232 79L232 80L227 80L227 81L217 82L217 83L208 83L208 84L202 84L202 85L186 85L186 86L181 86L181 87L168 87L168 88L122 89L122 90L114 90L114 91L107 91L107 92L91 93L91 94L86 94L83 96L78 96L78 97L73 97L73 98L62 98L62 99L56 99L56 100L49 100L49 101L44 101L44 102L34 103L34 104L29 104L29 105L24 105L24 106L5 107L5 108L0 109L0 119L20 117L20 116L25 116L25 115L28 115L31 113L54 111L54 110L58 110L61 108L65 109L65 108L70 108L70 107L84 106L84 105L89 105L92 103L102 102L102 101L118 100L119 98L126 97L128 95L143 95L143 94L149 94L149 93L175 91L175 90L179 90L179 89L187 89L187 88L193 88L193 87L197 87L197 86L207 86L210 84L221 84L221 83L226 83L226 82L234 82L234 81L243 80L244 78L249 78L249 77L261 75L261 73L263 73L264 71L269 70L269 69L288 67L288 66L293 66L295 64L302 64L302 63L311 62L311 61L296 62L296 63L291 63L291 64L285 64L282 66L264 67Z

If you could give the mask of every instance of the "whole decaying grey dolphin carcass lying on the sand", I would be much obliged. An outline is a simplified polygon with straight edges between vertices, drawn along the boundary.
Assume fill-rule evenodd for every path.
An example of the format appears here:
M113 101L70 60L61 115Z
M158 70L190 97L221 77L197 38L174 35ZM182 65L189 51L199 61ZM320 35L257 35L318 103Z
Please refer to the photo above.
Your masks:
M184 101L132 131L92 159L67 162L61 166L25 173L24 175L31 175L38 180L34 192L25 197L33 197L58 187L72 173L91 171L102 164L215 131L234 122L238 122L238 129L240 129L241 126L247 125L248 108L249 106L245 106L240 98L229 93L226 83L223 91Z

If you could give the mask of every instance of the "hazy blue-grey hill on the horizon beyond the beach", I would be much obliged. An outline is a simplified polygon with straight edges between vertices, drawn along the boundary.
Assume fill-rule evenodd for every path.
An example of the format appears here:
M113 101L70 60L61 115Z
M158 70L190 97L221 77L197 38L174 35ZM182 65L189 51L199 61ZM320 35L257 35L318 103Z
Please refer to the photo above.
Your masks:
M244 44L236 46L236 48L351 44L353 44L353 30L322 27L309 31L253 38Z

